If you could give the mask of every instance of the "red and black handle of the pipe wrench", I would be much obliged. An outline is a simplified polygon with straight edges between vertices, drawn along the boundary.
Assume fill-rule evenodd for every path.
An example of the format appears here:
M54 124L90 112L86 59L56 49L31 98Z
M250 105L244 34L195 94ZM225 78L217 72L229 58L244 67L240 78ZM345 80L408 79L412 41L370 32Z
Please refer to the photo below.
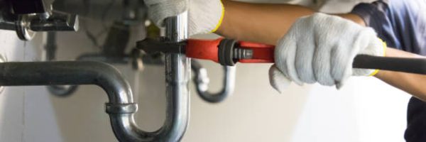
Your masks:
M212 60L219 62L218 47L223 38L217 40L188 40L186 54L189 58ZM253 58L239 59L241 63L273 63L273 45L263 45L258 43L236 42L236 45L226 48L242 48L253 50ZM354 68L390 70L396 72L408 72L426 75L426 59L422 58L389 58L372 55L357 55L352 64Z

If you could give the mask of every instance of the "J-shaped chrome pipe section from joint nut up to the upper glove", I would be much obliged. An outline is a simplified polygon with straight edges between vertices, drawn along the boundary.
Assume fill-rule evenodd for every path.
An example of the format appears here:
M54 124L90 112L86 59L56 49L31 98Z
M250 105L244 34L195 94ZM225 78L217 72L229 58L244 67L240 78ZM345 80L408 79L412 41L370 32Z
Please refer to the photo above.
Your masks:
M187 39L187 12L165 21L166 39L174 42ZM119 141L180 141L186 131L190 114L191 62L183 54L165 55L166 115L163 127L158 131L144 132L133 119L134 104L107 104L111 126Z

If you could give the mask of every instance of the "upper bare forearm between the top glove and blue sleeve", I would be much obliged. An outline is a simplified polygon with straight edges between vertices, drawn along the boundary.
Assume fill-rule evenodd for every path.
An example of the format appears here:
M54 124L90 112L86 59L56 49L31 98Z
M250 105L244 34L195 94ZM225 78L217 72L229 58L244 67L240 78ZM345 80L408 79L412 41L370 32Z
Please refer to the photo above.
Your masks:
M275 45L290 26L302 16L315 13L303 6L290 4L249 4L223 1L225 14L219 35L226 38ZM364 21L353 14L339 14L356 23Z

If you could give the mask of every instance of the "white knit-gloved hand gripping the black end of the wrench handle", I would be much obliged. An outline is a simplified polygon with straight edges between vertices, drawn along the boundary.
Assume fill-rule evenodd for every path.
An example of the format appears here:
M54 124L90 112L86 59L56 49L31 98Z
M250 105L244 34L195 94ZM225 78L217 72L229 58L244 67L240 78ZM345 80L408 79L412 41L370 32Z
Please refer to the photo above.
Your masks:
M275 48L275 65L269 71L271 85L282 92L293 81L318 82L337 88L351 75L375 75L378 70L352 69L356 55L384 56L386 44L372 28L315 13L298 19Z

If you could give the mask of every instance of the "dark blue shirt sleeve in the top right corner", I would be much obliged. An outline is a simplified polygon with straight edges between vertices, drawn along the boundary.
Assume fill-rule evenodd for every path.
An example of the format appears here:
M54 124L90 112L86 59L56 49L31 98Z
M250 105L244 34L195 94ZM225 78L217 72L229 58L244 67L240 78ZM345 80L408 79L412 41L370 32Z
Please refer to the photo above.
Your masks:
M426 0L375 1L351 11L389 47L426 55Z

